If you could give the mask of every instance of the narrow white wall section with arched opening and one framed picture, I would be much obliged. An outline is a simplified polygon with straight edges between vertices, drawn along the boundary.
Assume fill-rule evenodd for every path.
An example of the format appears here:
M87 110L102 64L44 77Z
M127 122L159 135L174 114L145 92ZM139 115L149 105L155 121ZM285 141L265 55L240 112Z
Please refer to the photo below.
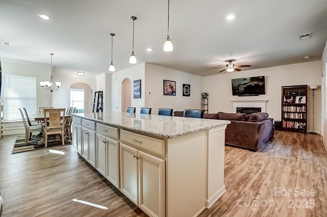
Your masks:
M136 107L136 113L140 112L141 107L145 107L145 63L132 66L128 69L117 71L111 74L111 86L119 85L119 108L118 111L122 111L122 82L127 77L131 80L133 86L134 80L141 79L141 99L134 99L132 97L131 106ZM131 88L131 94L133 96L133 88Z

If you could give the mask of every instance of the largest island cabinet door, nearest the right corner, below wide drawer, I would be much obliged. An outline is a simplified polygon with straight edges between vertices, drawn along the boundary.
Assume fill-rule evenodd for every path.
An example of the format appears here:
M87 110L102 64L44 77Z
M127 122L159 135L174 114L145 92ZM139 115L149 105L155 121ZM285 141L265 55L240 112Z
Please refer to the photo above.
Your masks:
M165 160L138 151L138 206L150 216L165 216Z

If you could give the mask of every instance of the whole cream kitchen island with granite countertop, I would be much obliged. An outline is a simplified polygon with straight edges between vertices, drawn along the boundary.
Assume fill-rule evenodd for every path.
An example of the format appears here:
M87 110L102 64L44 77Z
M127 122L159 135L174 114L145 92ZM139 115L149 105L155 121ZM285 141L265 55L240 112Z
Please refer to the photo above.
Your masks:
M226 191L230 121L133 113L73 114L73 146L150 216L197 216Z

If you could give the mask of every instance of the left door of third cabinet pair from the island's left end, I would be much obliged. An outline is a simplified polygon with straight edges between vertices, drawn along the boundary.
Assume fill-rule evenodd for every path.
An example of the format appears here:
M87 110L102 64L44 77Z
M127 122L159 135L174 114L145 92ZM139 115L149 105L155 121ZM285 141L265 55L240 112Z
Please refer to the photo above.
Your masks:
M106 138L98 134L96 135L97 142L96 142L96 169L106 177Z

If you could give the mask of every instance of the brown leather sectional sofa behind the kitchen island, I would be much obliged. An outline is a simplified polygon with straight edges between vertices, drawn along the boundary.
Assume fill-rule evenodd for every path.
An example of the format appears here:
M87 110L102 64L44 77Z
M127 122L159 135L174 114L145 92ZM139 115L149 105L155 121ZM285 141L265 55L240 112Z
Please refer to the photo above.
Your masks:
M230 120L225 131L225 144L256 151L274 136L273 119L267 113L205 114L203 118Z

